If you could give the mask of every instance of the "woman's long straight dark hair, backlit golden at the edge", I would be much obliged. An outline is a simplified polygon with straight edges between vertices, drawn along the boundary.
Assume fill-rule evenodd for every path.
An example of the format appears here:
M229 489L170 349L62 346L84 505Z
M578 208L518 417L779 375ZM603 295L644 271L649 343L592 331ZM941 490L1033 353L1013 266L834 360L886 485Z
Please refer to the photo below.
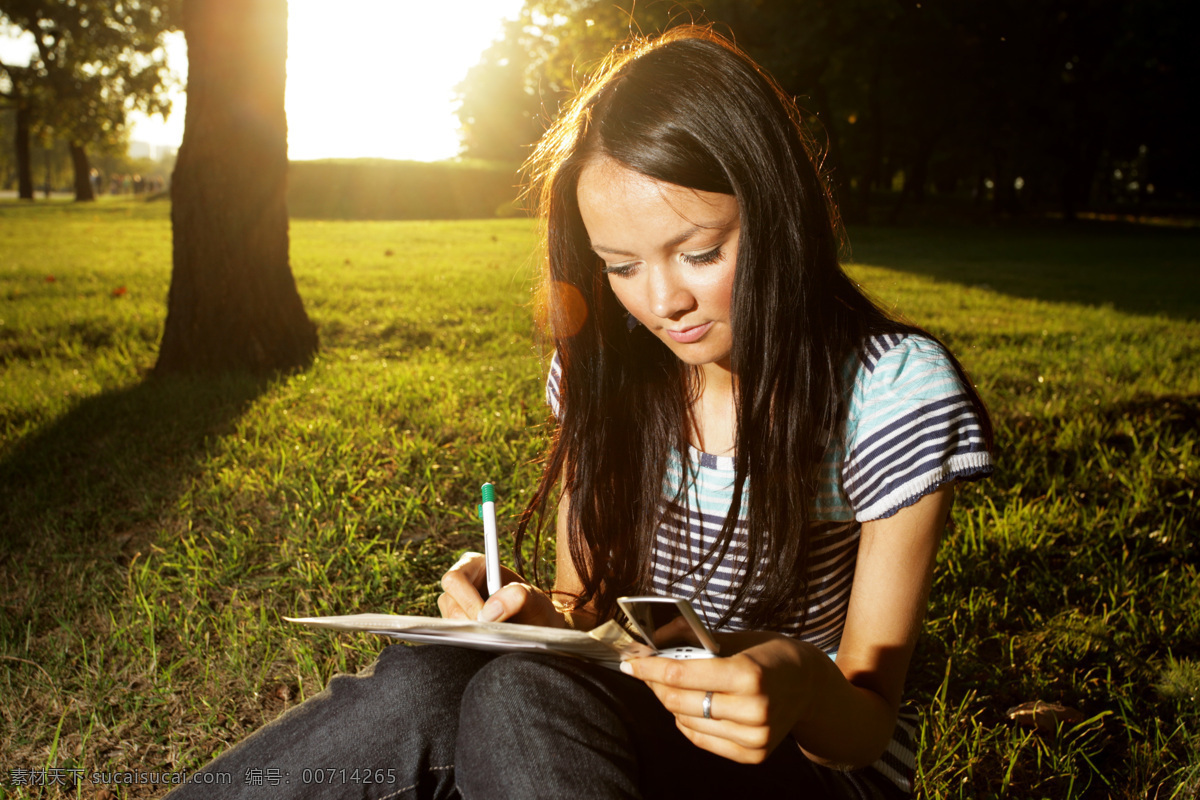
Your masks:
M538 549L562 486L583 582L575 602L593 603L601 619L618 596L650 585L664 475L672 452L688 463L696 390L691 368L666 345L628 330L580 217L580 173L611 158L737 198L736 479L718 545L696 572L707 583L744 506L737 555L748 579L722 621L737 613L767 627L805 613L817 470L841 435L847 363L868 336L917 330L881 312L840 267L836 211L814 154L794 104L749 56L708 29L683 26L614 50L527 164L545 225L542 296L562 378L558 426L516 549L529 534Z

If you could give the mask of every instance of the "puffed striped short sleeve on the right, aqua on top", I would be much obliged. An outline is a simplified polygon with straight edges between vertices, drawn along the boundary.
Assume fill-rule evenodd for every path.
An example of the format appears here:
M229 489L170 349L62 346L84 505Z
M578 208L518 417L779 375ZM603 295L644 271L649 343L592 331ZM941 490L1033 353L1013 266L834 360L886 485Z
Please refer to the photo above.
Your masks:
M991 453L949 355L924 336L872 337L846 423L842 491L854 519L890 517L938 487L991 474Z

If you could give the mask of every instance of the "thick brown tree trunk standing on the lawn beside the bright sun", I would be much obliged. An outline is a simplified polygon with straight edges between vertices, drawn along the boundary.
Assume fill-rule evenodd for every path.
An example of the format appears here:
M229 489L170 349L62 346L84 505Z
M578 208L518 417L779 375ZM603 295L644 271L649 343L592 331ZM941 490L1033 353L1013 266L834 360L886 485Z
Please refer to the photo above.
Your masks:
M287 0L184 0L184 32L187 115L155 372L306 366L317 329L288 265Z

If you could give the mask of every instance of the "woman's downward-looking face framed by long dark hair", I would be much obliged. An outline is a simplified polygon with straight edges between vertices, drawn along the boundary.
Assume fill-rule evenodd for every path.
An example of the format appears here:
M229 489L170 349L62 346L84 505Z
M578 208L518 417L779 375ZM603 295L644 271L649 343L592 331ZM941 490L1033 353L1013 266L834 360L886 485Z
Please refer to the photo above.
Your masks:
M610 158L583 168L577 196L617 300L682 361L727 371L737 199L664 184Z

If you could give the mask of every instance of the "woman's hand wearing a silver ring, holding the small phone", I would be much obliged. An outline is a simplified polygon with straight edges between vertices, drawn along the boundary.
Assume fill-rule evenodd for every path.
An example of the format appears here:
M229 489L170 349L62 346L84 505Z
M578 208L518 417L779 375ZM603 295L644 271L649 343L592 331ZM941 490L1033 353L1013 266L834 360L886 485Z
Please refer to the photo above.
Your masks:
M808 706L809 649L778 633L716 637L727 657L636 658L622 672L654 690L676 724L698 747L745 764L760 764L792 730ZM820 652L820 651L816 651ZM824 654L820 654L822 657ZM703 716L712 692L710 718Z

